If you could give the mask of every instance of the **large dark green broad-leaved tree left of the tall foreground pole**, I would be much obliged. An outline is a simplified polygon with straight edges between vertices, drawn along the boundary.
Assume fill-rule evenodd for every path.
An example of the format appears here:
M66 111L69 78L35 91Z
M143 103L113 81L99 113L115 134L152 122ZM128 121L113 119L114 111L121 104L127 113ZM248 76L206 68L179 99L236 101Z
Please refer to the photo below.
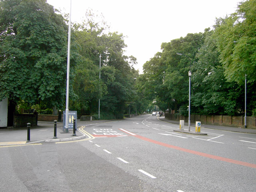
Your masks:
M2 0L0 7L0 99L62 106L68 35L64 18L46 0ZM71 66L78 57L72 50Z

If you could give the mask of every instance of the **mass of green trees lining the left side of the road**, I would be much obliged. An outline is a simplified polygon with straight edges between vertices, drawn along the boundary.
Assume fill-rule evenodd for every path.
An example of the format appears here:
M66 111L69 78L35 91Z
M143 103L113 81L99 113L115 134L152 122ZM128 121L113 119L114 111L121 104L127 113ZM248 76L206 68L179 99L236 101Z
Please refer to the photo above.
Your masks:
M0 100L63 109L67 19L46 0L1 0L0 7ZM72 24L70 110L97 114L100 98L103 118L122 118L128 106L139 112L136 58L124 55L122 34L96 19L89 10L82 24Z

